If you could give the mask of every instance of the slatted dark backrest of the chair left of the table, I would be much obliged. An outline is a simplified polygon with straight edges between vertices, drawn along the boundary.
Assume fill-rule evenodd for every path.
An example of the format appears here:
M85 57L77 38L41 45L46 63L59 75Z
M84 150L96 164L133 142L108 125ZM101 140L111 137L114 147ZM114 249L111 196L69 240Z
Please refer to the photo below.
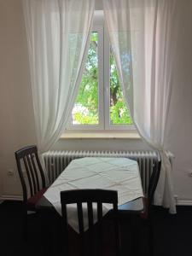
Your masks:
M23 201L26 202L28 197L35 195L45 187L44 171L38 158L37 146L20 148L15 152L15 159L23 189ZM24 177L25 172L26 179ZM26 180L29 185L30 195L27 195Z

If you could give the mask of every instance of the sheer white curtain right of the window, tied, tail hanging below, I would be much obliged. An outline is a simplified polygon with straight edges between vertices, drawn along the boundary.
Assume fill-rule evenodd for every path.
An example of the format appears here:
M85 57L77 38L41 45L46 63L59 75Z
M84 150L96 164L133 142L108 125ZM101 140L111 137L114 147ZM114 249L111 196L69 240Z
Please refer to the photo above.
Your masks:
M154 203L176 212L166 124L177 55L177 0L103 0L122 90L137 131L160 151Z

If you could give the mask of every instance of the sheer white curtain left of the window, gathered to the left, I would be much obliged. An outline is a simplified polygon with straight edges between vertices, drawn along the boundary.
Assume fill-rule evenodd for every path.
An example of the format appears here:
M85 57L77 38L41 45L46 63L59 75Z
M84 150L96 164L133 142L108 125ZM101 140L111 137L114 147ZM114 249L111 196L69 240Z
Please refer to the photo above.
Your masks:
M95 0L23 0L41 153L58 140L72 113L94 9Z

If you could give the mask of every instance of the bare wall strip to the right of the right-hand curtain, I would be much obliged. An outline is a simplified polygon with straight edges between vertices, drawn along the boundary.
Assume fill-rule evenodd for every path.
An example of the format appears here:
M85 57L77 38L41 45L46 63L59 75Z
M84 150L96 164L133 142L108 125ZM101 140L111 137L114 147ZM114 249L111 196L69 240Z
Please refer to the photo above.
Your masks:
M175 154L175 193L183 202L192 200L192 1L190 8L177 1L182 10L178 27L177 56L174 68L169 134L167 145ZM186 38L187 35L187 38Z

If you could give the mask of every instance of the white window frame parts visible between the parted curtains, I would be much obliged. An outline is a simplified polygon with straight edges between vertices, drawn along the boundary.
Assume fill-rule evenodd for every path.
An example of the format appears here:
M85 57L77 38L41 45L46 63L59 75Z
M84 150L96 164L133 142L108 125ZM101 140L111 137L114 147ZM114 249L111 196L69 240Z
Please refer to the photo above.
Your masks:
M96 21L96 22L95 22ZM99 23L99 24L95 24ZM134 125L111 125L110 124L110 42L108 32L104 26L103 15L94 17L92 32L98 33L98 125L72 124L69 120L67 131L135 131Z

